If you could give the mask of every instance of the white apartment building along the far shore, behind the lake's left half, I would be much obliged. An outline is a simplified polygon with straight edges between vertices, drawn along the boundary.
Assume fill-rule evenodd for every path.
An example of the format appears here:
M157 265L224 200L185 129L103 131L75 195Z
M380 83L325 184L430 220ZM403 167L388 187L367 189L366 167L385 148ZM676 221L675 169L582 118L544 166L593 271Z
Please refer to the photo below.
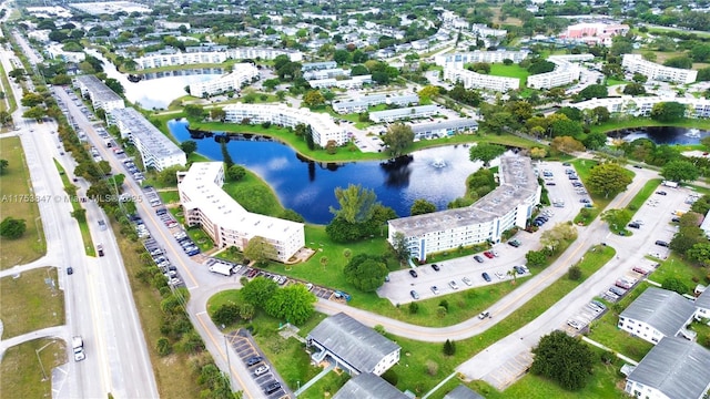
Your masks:
M305 124L311 126L313 141L322 147L325 147L329 141L334 141L337 145L347 142L347 132L336 124L331 115L311 112L305 108L235 103L225 105L223 110L226 113L225 120L232 123L241 123L244 119L248 119L251 123L271 122L287 127L294 127L300 123Z

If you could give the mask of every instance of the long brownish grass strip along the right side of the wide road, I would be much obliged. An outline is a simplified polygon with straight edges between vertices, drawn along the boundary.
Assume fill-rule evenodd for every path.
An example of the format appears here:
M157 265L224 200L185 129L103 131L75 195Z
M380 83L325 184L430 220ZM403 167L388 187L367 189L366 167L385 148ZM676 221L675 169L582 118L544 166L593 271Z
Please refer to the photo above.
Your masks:
M116 236L123 264L131 282L131 291L145 336L159 396L161 398L199 398L200 386L197 386L196 376L192 374L190 368L191 358L183 354L161 357L155 350L155 341L163 336L161 334L160 310L162 298L152 286L141 283L135 277L138 272L145 267L140 258L140 254L143 252L142 246L140 243L132 243L123 237L119 232L121 227L116 223L112 223L111 227Z

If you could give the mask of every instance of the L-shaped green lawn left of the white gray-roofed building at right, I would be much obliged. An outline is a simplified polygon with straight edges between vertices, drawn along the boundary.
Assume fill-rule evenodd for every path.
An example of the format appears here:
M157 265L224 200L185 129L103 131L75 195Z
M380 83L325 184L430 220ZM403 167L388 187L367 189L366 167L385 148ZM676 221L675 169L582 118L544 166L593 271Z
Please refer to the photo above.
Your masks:
M640 361L646 354L653 347L652 344L645 341L638 337L631 337L628 332L617 327L619 315L626 309L639 295L641 295L649 284L641 283L631 290L619 303L609 307L609 310L599 319L594 320L590 325L589 338L602 344L613 351L626 355L633 360Z

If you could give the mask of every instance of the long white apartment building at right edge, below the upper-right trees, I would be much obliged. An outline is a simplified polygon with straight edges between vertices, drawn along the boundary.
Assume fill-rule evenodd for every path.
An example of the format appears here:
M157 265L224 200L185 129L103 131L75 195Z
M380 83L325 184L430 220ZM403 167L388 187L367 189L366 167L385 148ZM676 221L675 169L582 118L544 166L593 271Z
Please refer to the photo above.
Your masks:
M591 99L578 103L570 103L569 106L579 110L591 110L597 106L604 106L609 113L649 116L653 105L671 101L686 105L687 117L710 117L710 99L622 95L619 98Z

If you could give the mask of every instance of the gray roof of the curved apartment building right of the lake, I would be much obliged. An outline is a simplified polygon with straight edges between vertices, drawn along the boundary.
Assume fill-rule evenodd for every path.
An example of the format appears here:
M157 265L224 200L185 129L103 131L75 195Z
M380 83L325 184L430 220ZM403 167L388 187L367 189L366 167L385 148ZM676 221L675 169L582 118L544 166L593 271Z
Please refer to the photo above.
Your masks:
M500 185L470 206L399 217L389 221L389 225L405 235L419 236L490 222L524 203L538 190L537 176L529 157L501 156L498 176Z

